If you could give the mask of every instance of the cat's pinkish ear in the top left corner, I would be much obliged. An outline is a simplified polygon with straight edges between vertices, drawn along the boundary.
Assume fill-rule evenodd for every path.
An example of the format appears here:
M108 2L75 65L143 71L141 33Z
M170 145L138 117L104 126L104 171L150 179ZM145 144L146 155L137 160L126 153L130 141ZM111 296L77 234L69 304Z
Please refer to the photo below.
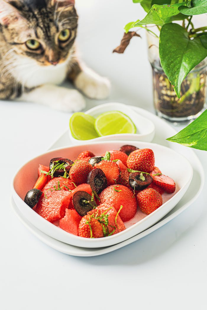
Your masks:
M23 20L23 17L15 7L4 0L0 1L0 24L8 26L21 20Z

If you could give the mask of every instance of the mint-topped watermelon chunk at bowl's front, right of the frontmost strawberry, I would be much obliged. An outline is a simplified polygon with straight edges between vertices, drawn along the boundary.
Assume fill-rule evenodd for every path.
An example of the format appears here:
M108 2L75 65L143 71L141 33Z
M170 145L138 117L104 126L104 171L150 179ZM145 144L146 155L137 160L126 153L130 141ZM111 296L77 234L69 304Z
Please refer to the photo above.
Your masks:
M96 209L88 212L88 215L92 214L94 214L95 218L101 221L101 223L104 225L107 236L115 235L116 233L126 229L119 214L117 215L116 209L109 204L101 204L100 206L97 206ZM105 224L105 218L108 221L108 225Z

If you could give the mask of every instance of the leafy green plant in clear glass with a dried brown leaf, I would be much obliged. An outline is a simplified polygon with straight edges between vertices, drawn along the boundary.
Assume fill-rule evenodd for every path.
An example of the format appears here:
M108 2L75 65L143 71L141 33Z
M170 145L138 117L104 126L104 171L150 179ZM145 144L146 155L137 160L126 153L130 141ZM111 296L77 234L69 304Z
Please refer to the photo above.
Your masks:
M207 13L207 0L133 0L146 11L142 20L128 23L121 45L123 53L135 27L145 28L153 70L156 113L171 122L189 122L205 109L207 82L206 25L195 26L195 15ZM204 15L205 16L205 15Z

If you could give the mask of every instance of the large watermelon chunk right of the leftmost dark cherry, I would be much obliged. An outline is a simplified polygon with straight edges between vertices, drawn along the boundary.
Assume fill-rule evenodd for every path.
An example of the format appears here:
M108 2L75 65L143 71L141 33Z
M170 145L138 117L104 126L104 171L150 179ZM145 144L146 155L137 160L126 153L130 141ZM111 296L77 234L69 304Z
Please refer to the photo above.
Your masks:
M68 191L48 191L43 193L35 211L49 222L61 219L70 202Z

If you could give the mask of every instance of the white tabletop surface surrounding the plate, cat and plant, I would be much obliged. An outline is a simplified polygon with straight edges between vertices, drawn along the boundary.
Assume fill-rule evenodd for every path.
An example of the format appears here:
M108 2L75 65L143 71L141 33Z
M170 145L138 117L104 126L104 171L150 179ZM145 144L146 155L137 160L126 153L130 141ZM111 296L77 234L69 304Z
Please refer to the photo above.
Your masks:
M112 54L123 25L144 16L131 0L77 0L82 58L108 76L108 100L152 104L146 41L133 38L124 55ZM39 104L1 102L0 307L6 309L206 309L206 188L171 222L120 250L92 258L62 254L34 237L10 208L16 169L43 153L68 126L70 114ZM205 172L207 153L195 151Z

